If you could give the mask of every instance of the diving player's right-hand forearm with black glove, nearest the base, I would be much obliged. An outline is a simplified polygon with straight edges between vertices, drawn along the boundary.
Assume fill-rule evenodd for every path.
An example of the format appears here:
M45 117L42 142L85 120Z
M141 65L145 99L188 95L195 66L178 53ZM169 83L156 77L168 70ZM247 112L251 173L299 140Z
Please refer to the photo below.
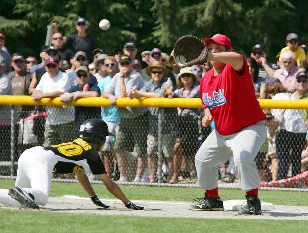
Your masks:
M137 206L126 198L125 194L122 192L120 187L114 183L107 174L99 174L100 179L104 182L104 185L110 193L112 193L116 198L120 199L124 205L129 209L142 210L142 206Z

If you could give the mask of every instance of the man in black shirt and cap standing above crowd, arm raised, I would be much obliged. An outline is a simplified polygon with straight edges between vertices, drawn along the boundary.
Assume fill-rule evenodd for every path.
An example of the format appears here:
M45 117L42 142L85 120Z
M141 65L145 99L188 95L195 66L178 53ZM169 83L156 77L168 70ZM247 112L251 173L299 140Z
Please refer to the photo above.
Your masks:
M55 32L59 32L58 25L53 22L52 27ZM87 26L85 18L78 18L76 21L77 34L63 36L63 43L69 43L73 47L73 52L83 51L89 60L89 63L93 62L92 52L98 48L95 37L87 34Z

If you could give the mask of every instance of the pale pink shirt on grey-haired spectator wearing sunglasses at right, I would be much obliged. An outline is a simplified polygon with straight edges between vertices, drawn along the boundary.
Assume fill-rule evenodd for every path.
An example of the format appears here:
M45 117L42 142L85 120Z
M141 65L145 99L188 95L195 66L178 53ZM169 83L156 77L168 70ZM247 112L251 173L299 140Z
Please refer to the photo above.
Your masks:
M289 92L295 92L295 78L298 73L304 72L303 68L293 66L289 71L285 69L278 69L274 72L273 77L278 78L283 86L288 87Z

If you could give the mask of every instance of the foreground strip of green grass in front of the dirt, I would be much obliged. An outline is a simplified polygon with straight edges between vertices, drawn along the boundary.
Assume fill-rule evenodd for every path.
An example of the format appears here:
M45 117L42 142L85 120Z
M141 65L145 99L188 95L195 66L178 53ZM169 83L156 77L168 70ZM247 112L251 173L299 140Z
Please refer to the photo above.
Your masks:
M95 214L0 211L1 233L307 232L307 221L151 218ZM305 230L306 229L306 230Z

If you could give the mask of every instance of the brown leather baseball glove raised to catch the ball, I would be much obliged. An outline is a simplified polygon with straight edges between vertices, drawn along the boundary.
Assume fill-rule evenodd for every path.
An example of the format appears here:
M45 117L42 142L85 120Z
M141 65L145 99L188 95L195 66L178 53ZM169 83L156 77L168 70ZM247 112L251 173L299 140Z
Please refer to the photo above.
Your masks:
M198 37L185 35L175 42L172 52L176 64L183 68L204 64L207 61L208 47Z

